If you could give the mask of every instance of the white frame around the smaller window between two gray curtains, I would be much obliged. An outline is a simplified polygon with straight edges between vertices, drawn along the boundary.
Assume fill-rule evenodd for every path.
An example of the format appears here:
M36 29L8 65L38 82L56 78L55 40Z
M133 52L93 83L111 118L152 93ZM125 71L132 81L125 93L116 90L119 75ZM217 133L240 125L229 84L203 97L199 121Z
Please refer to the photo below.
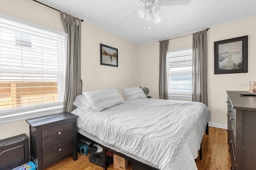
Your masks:
M174 52L186 51L186 50L191 50L191 53L193 52L192 47L167 51L166 60L167 60L168 53L174 53ZM191 67L192 67L192 65L191 65ZM177 93L177 92L170 93L170 91L169 91L170 79L169 79L168 62L167 61L166 61L166 75L167 75L166 78L167 78L167 88L168 88L168 99L192 101L192 93ZM192 75L192 72L191 72L191 75ZM192 79L193 79L193 77L192 77Z

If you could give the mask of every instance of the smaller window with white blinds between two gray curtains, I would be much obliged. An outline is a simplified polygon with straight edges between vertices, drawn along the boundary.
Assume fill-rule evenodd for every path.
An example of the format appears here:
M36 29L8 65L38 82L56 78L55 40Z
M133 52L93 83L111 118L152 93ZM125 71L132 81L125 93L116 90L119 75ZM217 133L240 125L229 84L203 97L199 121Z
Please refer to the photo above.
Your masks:
M192 99L192 48L167 52L168 97Z

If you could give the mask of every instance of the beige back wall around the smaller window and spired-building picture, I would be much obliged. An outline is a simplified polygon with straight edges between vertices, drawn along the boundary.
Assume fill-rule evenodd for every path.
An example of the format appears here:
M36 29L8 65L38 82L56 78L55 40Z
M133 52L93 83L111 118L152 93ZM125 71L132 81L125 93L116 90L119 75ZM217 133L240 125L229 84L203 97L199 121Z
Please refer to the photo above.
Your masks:
M189 33L188 33L189 34ZM214 42L248 35L248 73L214 75ZM256 17L210 28L208 37L208 107L212 125L226 125L226 91L247 91L248 81L256 81ZM169 41L168 50L192 47L192 35ZM159 43L140 46L141 84L149 87L153 98L159 97Z

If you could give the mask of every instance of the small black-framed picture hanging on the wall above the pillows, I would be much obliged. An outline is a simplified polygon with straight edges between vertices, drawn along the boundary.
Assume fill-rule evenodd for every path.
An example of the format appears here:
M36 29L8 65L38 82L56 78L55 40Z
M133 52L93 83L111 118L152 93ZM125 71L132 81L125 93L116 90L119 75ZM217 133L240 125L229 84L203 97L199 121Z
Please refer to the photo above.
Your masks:
M100 65L118 67L118 49L100 44Z

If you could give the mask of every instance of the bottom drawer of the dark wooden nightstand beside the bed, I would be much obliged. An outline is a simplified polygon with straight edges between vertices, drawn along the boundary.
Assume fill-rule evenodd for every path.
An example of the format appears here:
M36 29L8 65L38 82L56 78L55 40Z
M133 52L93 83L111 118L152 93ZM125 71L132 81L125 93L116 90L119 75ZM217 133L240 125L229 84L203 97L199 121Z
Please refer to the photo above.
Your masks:
M69 152L74 151L74 138L68 138L56 144L46 146L42 148L43 164L54 160L60 156L64 156Z

